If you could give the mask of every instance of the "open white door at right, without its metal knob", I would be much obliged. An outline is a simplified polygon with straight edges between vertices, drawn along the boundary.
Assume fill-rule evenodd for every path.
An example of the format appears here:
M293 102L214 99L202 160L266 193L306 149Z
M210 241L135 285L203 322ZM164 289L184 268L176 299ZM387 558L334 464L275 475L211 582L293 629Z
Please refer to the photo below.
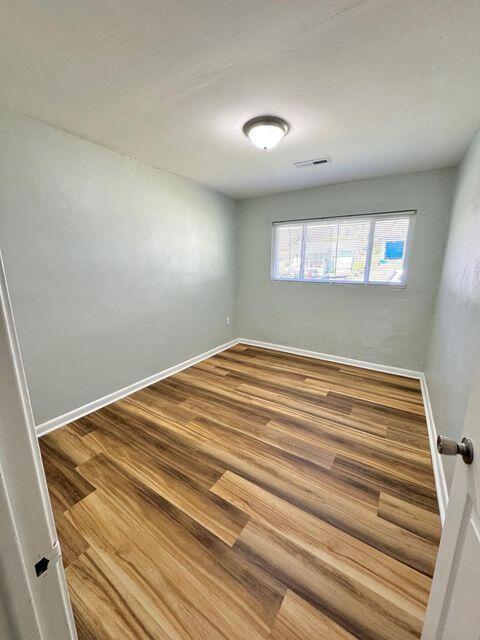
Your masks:
M480 639L480 365L463 437L473 462L457 455L422 640Z

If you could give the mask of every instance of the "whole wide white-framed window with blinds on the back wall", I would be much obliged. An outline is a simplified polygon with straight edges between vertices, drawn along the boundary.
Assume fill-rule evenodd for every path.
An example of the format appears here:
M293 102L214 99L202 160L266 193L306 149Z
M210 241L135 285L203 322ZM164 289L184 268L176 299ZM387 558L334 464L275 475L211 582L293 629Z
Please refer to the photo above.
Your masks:
M272 278L404 286L414 214L276 222Z

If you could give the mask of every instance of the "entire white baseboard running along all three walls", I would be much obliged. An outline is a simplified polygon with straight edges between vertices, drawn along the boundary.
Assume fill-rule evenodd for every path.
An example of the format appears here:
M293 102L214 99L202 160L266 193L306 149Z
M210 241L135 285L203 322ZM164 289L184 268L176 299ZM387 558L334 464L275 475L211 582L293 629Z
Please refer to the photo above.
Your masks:
M445 511L448 502L448 490L447 484L445 481L445 473L443 470L443 464L440 457L440 454L437 452L436 442L437 442L437 431L435 428L435 422L433 419L432 406L430 403L430 397L428 395L427 382L425 379L425 374L421 371L413 371L411 369L402 369L401 367L390 367L384 364L377 364L374 362L366 362L364 360L355 360L352 358L344 358L342 356L334 356L329 353L320 353L318 351L309 351L308 349L297 349L295 347L287 347L281 344L274 344L272 342L262 342L260 340L251 340L250 338L237 338L235 340L230 340L225 344L222 344L218 347L210 349L209 351L205 351L204 353L199 354L198 356L194 356L189 360L185 360L180 364L174 365L173 367L169 367L168 369L164 369L159 373L155 373L148 378L144 378L139 382L135 382L123 389L119 389L118 391L114 391L103 398L99 398L98 400L94 400L93 402L89 402L88 404L83 405L82 407L78 407L78 409L73 409L68 413L65 413L57 418L52 418L52 420L48 420L47 422L43 422L36 427L37 436L43 436L50 431L54 431L59 427L63 427L64 425L73 422L74 420L78 420L88 413L92 413L93 411L97 411L102 407L105 407L112 402L116 402L125 396L134 393L135 391L139 391L145 387L148 387L163 378L168 378L168 376L174 375L183 369L187 369L202 360L206 360L211 356L214 356L216 353L220 353L221 351L225 351L230 347L235 346L236 344L246 344L254 347L263 347L264 349L272 349L274 351L283 351L285 353L293 353L295 355L306 356L307 358L315 358L317 360L327 360L329 362L337 362L338 364L345 364L351 367L359 367L362 369L370 369L373 371L380 371L383 373L390 373L397 376L404 376L407 378L415 378L420 380L420 385L422 389L423 403L425 405L425 414L426 421L428 427L428 438L430 443L430 451L432 456L432 464L433 464L433 473L435 476L435 486L437 490L438 497L438 506L440 511L440 518L443 521L445 519Z

